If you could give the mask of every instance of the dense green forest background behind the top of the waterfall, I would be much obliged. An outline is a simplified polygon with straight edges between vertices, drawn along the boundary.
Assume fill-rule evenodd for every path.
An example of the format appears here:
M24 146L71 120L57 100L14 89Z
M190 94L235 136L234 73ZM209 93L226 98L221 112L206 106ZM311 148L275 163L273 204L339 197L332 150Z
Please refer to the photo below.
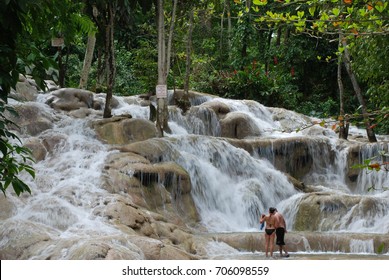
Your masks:
M89 79L82 87L107 92L110 71L107 59L111 48L115 65L112 92L117 95L155 92L158 1L2 2L16 2L17 8L26 11L24 30L15 41L21 50L18 64L26 68L31 62L36 64L37 58L43 64L34 65L27 72L45 68L45 79L53 79L62 87L79 87L88 35L93 35L96 42L91 68L87 70ZM335 8L340 12L335 12ZM358 14L350 13L349 8ZM181 0L164 1L163 9L166 33L172 29L169 88L184 88L188 81L191 90L225 98L253 99L265 106L317 117L340 115L342 101L346 114L358 115L361 104L344 64L341 65L343 100L339 94L337 22L343 14L343 18L353 16L352 25L342 28L346 35L353 35L348 39L352 68L369 112L382 110L389 103L386 1ZM362 10L370 13L369 17L362 15ZM300 21L281 19L276 13L296 14ZM309 32L317 25L315 20L323 18L323 13L328 15L328 24L321 32ZM337 21L334 15L338 15ZM364 18L382 22L367 30ZM301 20L304 29L299 28ZM108 36L112 47L107 44ZM64 43L54 47L51 42L57 37ZM377 125L378 133L386 134L389 130L387 117L373 124Z

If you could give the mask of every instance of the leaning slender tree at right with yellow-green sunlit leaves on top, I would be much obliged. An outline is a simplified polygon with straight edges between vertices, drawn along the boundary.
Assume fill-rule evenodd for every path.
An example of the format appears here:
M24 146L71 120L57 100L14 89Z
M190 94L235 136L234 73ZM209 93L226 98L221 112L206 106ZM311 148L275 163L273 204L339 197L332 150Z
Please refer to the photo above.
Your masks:
M256 0L258 7L268 4L267 0ZM376 137L369 119L368 109L362 89L352 67L350 49L362 35L383 35L389 32L386 15L389 13L388 3L382 1L353 1L353 0L285 0L279 3L278 8L294 5L293 12L282 9L267 11L259 15L259 22L272 24L287 24L296 32L311 36L339 35L340 47L338 55L342 57L345 69L350 77L355 94L360 102L368 138L375 142Z

